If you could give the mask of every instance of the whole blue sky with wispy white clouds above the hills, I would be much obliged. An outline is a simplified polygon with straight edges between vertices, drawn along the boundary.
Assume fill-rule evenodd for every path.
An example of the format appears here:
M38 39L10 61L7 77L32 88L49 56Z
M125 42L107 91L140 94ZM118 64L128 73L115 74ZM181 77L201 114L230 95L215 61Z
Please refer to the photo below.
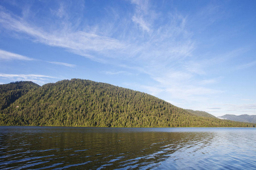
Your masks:
M256 114L256 1L0 1L0 84L89 79Z

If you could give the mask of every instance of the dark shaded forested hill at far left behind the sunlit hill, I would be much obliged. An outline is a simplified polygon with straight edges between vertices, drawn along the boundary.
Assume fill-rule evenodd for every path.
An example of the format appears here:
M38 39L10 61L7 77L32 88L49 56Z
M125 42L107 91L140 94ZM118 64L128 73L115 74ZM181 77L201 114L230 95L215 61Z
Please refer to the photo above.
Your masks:
M40 86L33 82L13 82L0 85L0 110L9 107L19 97L38 87Z

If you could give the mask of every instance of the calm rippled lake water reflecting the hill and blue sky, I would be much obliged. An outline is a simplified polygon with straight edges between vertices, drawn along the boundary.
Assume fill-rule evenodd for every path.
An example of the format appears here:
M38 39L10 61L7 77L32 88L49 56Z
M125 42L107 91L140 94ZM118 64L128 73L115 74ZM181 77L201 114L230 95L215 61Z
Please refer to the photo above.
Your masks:
M0 126L0 169L256 169L256 128Z

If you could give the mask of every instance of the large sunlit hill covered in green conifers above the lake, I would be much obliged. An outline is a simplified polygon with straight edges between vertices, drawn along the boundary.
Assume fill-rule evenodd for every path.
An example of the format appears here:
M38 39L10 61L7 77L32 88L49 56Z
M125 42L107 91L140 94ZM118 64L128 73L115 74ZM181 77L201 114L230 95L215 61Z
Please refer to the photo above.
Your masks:
M61 80L32 88L0 112L0 125L255 126L249 123L196 116L142 92L81 79Z

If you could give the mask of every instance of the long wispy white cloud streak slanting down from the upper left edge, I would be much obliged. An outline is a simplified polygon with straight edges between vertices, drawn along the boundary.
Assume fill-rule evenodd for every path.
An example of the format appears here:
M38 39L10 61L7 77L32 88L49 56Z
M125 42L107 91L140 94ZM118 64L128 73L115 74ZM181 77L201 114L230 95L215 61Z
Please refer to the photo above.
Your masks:
M9 31L25 33L34 41L42 42L50 46L59 46L71 50L81 56L94 56L93 53L109 54L112 50L122 49L125 45L117 39L96 35L85 31L75 31L71 27L46 31L43 27L37 27L18 16L9 14L0 8L0 24ZM92 57L91 59L97 60ZM100 61L100 59L98 59Z

